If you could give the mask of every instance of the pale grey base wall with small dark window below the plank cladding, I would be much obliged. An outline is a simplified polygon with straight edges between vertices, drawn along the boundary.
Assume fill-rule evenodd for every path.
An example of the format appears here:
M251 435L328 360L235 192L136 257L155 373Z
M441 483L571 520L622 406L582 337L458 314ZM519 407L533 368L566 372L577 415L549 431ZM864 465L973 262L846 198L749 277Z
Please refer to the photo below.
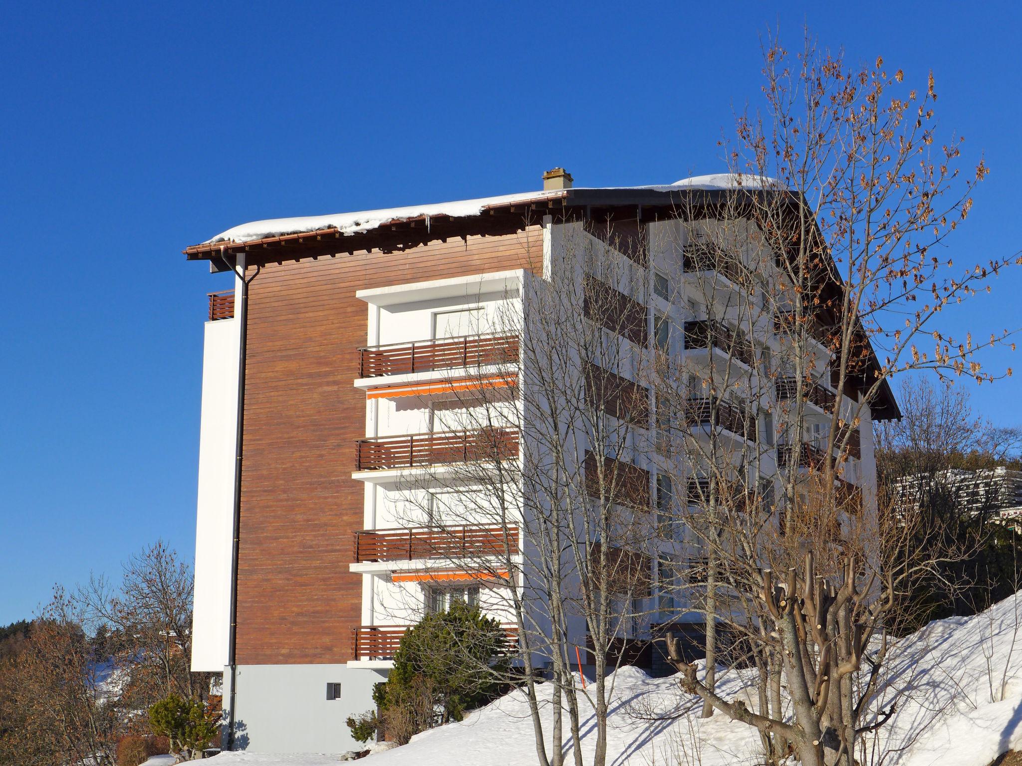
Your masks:
M230 671L224 673L229 683ZM256 753L343 753L365 746L344 721L373 709L373 685L386 671L346 665L240 665L234 750ZM340 697L327 699L327 683ZM225 683L225 693L229 687ZM225 696L225 704L228 698Z

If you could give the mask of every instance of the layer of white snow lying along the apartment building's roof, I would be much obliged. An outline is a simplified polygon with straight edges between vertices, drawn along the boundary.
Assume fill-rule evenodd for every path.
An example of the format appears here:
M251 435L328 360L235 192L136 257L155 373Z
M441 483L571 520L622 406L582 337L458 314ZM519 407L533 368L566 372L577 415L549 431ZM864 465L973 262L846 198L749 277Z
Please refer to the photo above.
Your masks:
M575 190L586 187L574 187ZM642 189L650 191L679 190L714 190L714 189L765 189L781 188L776 179L758 178L731 173L718 173L710 176L694 176L676 181L673 184L629 187L599 187L601 189ZM438 202L433 204L409 205L407 207L389 207L380 210L361 210L357 212L338 212L328 216L303 216L289 219L269 219L253 221L241 226L235 226L216 237L207 239L203 245L215 245L221 242L242 243L268 237L283 237L289 234L305 234L309 232L332 229L341 234L361 234L376 229L384 224L409 219L422 219L446 216L449 218L466 218L479 216L487 207L524 202L526 200L542 200L548 197L563 196L564 190L521 192L505 194L497 197L480 199L463 199L456 202Z

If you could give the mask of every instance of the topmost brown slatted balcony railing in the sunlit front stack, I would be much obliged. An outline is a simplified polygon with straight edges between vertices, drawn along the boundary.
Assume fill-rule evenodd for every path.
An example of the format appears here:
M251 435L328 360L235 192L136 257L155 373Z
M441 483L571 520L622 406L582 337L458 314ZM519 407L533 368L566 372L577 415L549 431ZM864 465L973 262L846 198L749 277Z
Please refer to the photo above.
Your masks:
M517 361L517 335L464 335L359 349L360 377L363 378L508 365Z

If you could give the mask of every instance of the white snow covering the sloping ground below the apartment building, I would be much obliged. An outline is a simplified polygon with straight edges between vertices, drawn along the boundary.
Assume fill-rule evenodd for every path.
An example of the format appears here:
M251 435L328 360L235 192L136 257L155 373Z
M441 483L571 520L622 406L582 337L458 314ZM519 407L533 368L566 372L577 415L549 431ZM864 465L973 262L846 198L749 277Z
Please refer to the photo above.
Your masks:
M1022 593L972 618L931 623L891 650L882 707L895 712L869 745L867 761L890 766L986 766L1022 747ZM550 725L549 687L544 710ZM723 682L725 697L745 692L739 674ZM608 764L735 766L759 761L755 732L715 714L693 715L694 698L672 678L635 668L616 673ZM584 762L592 762L592 715L583 725ZM336 756L224 753L219 766L323 766ZM230 761L230 764L224 763ZM403 747L363 760L367 766L531 766L536 747L523 697L512 693ZM568 763L571 762L569 758ZM151 766L162 766L151 764Z

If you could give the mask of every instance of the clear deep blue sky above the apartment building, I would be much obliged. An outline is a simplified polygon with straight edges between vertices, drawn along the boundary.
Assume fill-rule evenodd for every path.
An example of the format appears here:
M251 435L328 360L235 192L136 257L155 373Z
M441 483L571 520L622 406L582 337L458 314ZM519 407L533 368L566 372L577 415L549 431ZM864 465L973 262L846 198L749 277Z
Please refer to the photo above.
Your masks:
M1018 250L1022 11L892 5L19 4L0 46L0 624L157 537L191 558L205 293L227 284L183 247L535 189L554 165L579 186L718 172L770 25L920 86L932 67L942 127L992 167L950 254ZM1020 295L1004 277L956 322L1018 327ZM1022 425L1020 394L973 398Z

